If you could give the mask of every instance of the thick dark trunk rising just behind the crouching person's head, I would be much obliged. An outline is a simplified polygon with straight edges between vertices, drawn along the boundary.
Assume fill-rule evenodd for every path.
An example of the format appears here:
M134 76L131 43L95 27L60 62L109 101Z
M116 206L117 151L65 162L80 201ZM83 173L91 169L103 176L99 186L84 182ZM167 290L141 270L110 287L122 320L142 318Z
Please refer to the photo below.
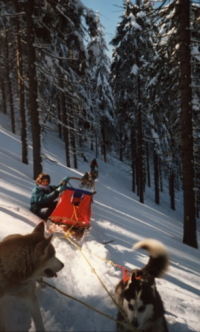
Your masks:
M26 25L27 25L27 55L28 55L28 76L29 76L29 108L31 117L31 132L33 142L33 177L37 178L38 174L42 172L42 158L41 158L41 126L39 122L38 109L38 91L37 91L37 77L36 77L36 55L34 48L34 23L33 11L34 0L28 0L26 3Z

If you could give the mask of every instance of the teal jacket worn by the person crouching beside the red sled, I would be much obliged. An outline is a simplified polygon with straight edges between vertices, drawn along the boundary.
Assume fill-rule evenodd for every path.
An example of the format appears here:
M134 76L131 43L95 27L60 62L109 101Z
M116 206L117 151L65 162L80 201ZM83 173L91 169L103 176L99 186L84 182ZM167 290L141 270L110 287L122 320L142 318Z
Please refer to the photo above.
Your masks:
M58 186L49 186L49 192L36 185L31 193L31 212L37 214L41 208L47 207L49 203L52 203L59 196L59 192L56 191L56 188L58 188Z

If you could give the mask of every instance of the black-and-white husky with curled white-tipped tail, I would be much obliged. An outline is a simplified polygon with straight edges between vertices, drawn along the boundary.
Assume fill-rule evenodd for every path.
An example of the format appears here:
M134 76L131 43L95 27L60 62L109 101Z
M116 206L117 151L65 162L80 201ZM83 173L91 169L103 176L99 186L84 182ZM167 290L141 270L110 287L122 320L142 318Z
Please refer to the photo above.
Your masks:
M133 249L140 248L150 254L147 265L132 270L130 278L121 280L115 288L115 300L120 309L117 329L168 332L163 303L155 284L155 278L161 277L168 268L168 254L163 244L154 239L146 239L133 246Z

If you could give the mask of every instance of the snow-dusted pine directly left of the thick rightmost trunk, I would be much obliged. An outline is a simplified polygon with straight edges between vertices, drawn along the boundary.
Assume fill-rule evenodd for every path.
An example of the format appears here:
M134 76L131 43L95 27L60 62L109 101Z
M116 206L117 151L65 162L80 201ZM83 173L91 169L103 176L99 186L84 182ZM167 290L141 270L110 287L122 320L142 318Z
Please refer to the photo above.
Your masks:
M148 71L147 95L152 100L149 114L155 137L154 147L162 165L168 170L171 207L174 209L175 184L172 181L181 177L180 55L176 30L179 22L174 3L156 11L156 15L159 29L156 54Z

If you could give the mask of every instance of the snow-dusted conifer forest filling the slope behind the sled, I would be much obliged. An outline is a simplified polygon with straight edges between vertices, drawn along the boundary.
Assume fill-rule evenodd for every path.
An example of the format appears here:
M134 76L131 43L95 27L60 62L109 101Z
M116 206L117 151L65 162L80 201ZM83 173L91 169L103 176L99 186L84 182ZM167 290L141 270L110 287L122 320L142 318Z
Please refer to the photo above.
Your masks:
M131 190L155 202L167 181L171 208L183 191L183 242L197 248L200 206L200 4L124 0L112 58L99 15L80 0L0 1L0 112L20 128L21 161L33 146L42 172L43 134L64 142L78 169L85 144L107 162L130 164Z

